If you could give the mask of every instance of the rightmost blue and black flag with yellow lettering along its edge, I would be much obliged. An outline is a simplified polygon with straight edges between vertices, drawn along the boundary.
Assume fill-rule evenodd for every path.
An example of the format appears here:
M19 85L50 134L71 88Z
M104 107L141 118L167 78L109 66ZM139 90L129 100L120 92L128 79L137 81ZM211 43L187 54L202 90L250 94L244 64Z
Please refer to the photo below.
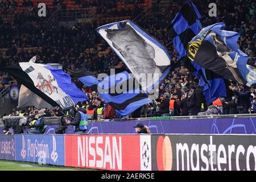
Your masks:
M203 28L189 42L187 56L191 61L227 80L239 84L247 83L250 86L256 78L246 66L248 56L237 47L240 35L237 32L222 30L224 27L224 23L216 23Z

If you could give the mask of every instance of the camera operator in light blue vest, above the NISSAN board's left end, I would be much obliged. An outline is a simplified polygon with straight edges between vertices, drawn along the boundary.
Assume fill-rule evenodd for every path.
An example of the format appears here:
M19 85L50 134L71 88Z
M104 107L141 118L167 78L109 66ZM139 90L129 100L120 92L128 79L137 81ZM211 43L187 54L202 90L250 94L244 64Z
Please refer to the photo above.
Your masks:
M73 125L75 127L76 134L84 134L88 129L88 117L85 108L82 107L77 111L74 121L65 119L65 122L67 125Z

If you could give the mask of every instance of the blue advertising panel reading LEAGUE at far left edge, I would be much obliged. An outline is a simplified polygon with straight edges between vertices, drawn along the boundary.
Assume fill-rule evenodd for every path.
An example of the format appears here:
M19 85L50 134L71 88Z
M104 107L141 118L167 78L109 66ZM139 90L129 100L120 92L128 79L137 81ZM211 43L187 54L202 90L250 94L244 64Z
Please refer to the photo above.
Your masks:
M0 135L0 159L15 160L14 135Z

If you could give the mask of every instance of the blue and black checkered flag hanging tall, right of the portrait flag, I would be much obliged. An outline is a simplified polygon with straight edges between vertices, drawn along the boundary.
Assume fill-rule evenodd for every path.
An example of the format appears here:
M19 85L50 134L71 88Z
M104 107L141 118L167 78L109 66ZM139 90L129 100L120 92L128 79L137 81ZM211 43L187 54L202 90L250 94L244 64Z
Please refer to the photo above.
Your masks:
M193 72L193 75L200 79L199 86L203 87L205 100L210 103L218 97L227 96L228 81L209 69L204 69L199 64L190 61L187 57L188 43L203 28L200 19L201 15L196 6L188 1L170 23L168 33L174 40L178 58L184 62L190 72Z

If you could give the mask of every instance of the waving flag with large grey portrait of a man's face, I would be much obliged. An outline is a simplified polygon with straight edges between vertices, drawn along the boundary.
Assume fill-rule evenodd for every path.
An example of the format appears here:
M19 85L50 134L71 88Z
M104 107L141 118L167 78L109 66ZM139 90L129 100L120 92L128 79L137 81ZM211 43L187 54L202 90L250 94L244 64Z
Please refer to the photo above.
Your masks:
M156 88L167 76L171 63L167 49L135 23L124 20L96 30L126 64L146 93Z

